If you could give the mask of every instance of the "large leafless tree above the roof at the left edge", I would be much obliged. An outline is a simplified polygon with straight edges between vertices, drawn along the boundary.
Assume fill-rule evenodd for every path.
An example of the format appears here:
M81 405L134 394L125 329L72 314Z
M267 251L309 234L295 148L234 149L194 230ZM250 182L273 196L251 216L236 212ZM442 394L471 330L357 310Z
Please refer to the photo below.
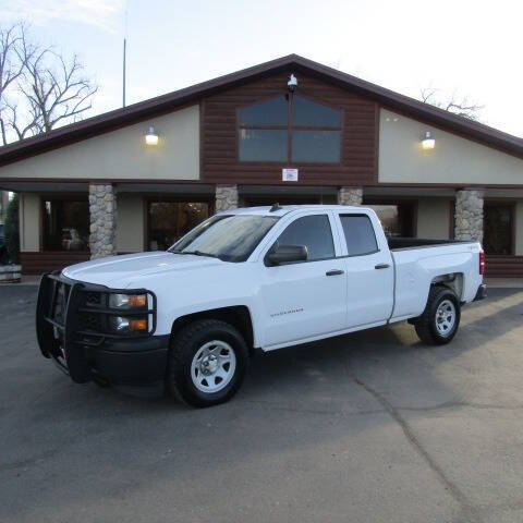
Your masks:
M80 120L92 108L97 86L77 56L65 58L53 48L33 44L23 24L5 33L11 35L5 39L11 88L9 96L7 89L0 93L3 144L9 136L22 139ZM2 42L0 46L0 52L7 48Z

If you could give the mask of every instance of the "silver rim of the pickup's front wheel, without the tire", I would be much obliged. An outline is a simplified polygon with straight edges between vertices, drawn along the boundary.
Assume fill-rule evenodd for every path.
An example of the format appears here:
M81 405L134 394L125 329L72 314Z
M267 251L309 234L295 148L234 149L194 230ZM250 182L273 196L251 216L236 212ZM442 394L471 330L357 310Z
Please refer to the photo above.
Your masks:
M229 343L221 340L202 345L191 364L191 378L202 392L218 392L229 385L236 369L236 355Z

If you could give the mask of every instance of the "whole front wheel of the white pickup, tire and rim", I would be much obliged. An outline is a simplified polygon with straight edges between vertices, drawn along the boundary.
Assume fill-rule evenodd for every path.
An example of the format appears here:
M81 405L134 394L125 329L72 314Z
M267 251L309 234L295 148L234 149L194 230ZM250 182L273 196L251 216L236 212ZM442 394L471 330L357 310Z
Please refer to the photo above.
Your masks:
M172 339L167 385L190 405L217 405L238 391L247 362L245 340L232 325L216 319L194 321Z

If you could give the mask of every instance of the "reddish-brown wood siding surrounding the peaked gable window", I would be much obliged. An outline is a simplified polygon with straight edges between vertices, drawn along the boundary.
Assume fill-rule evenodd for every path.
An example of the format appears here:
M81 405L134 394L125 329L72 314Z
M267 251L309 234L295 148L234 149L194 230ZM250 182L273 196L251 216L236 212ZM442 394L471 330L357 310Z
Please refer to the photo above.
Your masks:
M255 163L238 160L239 108L287 93L294 72L299 94L343 111L341 163ZM374 185L377 180L379 108L374 101L289 70L202 100L202 179L209 183L282 184L281 169L300 169L296 184ZM294 183L293 183L294 184Z

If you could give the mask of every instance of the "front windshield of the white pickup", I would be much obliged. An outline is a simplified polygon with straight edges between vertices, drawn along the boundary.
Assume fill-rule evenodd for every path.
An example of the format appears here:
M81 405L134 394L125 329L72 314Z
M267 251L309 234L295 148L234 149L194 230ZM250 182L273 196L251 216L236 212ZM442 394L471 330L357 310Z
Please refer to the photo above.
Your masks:
M276 216L214 216L179 240L169 252L245 262L277 221Z

